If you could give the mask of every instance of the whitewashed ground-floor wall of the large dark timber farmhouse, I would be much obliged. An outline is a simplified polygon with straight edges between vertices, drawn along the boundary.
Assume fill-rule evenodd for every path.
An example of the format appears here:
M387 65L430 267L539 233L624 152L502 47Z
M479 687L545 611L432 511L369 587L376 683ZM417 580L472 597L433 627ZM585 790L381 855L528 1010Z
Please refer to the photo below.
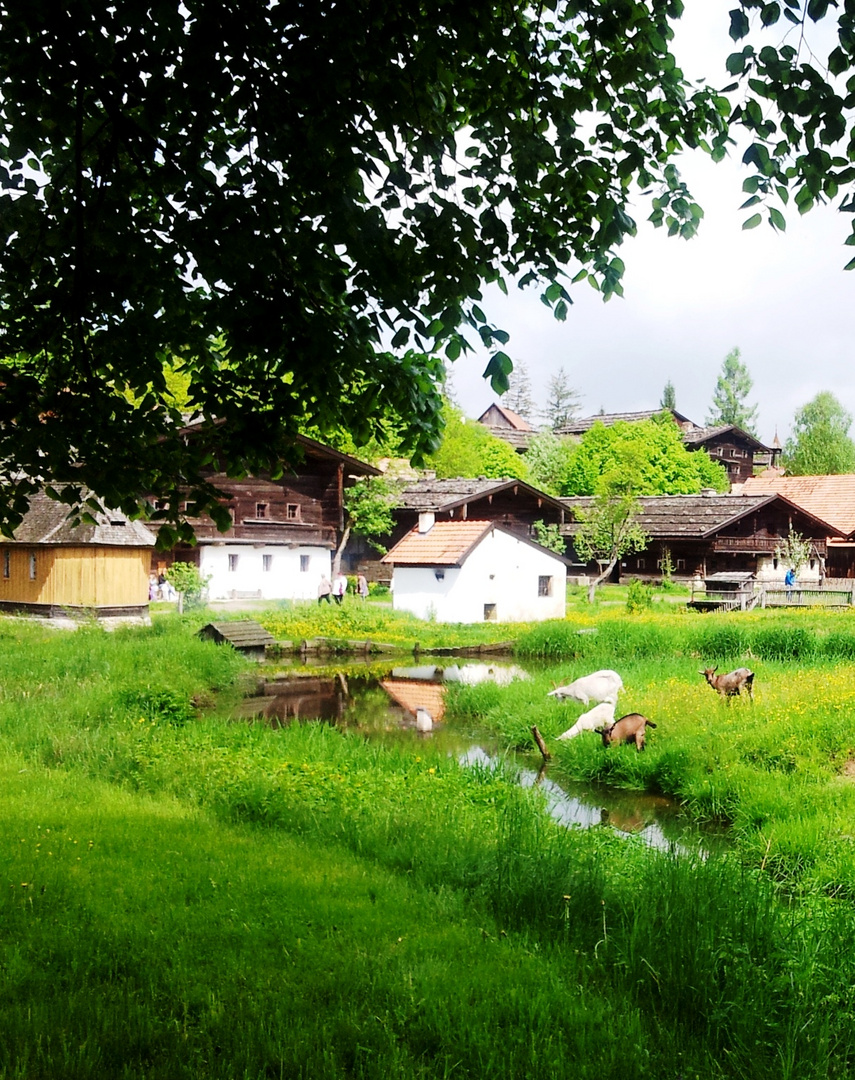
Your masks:
M261 593L266 600L316 599L321 576L330 577L332 558L327 548L284 548L274 544L201 544L200 572L211 575L208 598L231 599L232 594ZM238 566L229 569L229 555L238 556ZM264 570L263 556L270 556ZM300 556L309 559L309 569L300 569Z

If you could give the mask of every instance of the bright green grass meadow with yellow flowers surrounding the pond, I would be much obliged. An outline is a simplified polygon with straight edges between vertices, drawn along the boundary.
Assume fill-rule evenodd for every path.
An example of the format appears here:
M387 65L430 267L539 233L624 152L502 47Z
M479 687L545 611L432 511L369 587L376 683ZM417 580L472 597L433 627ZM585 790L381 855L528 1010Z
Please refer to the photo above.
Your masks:
M846 617L580 615L520 627L532 679L456 690L511 746L616 667L648 751L555 766L728 820L706 859L560 828L430 742L230 721L254 676L196 625L0 623L2 1080L851 1074Z

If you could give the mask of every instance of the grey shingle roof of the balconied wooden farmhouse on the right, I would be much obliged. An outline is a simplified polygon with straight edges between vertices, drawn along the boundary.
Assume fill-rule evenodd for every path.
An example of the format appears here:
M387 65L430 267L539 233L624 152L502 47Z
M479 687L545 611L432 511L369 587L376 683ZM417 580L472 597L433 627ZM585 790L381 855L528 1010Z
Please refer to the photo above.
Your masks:
M638 499L641 508L638 524L650 537L674 537L705 539L745 517L779 500L790 510L800 511L816 522L820 536L842 532L828 522L810 513L803 507L775 494L769 495L647 495ZM594 502L592 496L580 496L561 500L569 510L586 510ZM576 523L566 527L571 535Z

